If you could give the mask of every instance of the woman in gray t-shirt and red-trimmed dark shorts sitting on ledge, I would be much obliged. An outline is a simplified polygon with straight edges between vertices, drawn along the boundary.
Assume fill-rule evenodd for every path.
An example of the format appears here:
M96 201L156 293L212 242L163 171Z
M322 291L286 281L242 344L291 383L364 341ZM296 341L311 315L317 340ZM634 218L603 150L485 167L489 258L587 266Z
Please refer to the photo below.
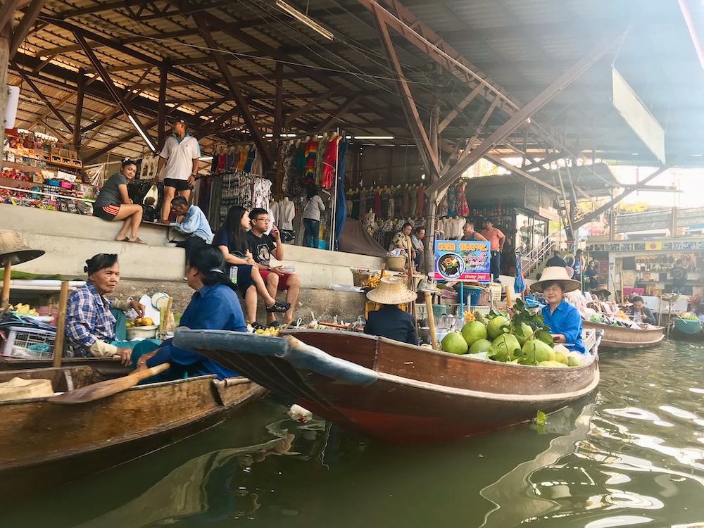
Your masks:
M108 222L125 220L122 229L115 237L121 242L144 242L137 237L139 224L142 223L142 206L139 203L132 203L130 195L127 194L127 181L134 180L137 174L137 163L130 159L122 162L120 172L112 175L105 182L103 188L93 204L93 215ZM130 237L127 237L127 232Z

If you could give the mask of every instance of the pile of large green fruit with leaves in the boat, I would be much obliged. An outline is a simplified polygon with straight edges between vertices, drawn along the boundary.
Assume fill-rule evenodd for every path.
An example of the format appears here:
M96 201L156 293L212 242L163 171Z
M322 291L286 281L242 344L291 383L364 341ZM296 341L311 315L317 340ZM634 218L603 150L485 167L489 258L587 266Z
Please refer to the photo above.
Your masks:
M520 299L510 318L501 310L491 310L488 315L475 311L474 321L449 332L440 348L453 354L538 367L579 367L586 360L579 352L555 345L542 315L525 308Z

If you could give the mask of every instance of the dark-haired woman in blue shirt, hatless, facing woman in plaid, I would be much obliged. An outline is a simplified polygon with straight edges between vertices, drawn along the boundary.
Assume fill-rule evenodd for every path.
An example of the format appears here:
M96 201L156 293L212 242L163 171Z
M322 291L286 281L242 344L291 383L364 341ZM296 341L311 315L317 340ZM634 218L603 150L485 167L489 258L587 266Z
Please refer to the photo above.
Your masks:
M235 293L237 284L225 275L225 258L218 249L210 246L193 249L186 263L186 279L196 293L181 316L180 326L194 330L247 331L244 313ZM132 365L137 370L146 370L161 363L170 363L169 370L148 378L148 383L208 374L214 374L218 379L238 376L237 372L197 352L174 346L172 339L161 345L153 344L149 349L140 347L132 354Z

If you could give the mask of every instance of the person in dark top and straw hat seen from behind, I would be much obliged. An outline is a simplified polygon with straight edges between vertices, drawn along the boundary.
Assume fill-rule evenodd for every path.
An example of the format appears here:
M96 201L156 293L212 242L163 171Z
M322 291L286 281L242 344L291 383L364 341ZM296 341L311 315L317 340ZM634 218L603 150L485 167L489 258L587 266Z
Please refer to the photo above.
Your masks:
M399 304L410 303L415 297L401 277L382 277L379 286L367 292L367 298L384 306L369 313L364 333L417 345L413 315L398 308Z

